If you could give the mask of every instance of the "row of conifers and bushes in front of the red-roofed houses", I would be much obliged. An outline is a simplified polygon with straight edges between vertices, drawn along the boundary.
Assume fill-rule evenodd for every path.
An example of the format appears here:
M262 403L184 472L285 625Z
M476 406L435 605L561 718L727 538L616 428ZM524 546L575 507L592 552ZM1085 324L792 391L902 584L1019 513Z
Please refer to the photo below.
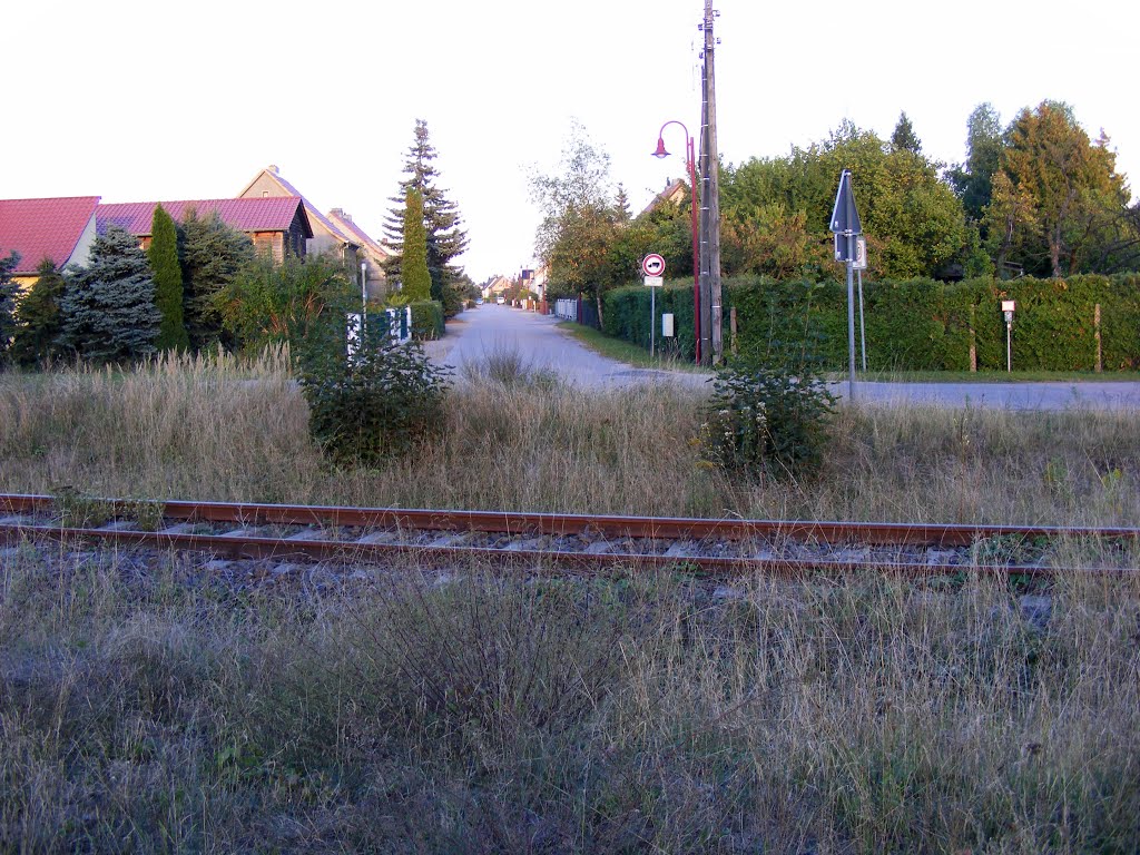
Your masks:
M17 298L13 253L0 259L0 359L24 367L76 359L136 363L164 351L298 343L332 306L355 294L343 264L317 256L275 263L217 213L176 223L157 205L146 251L109 226L88 263L43 259Z

